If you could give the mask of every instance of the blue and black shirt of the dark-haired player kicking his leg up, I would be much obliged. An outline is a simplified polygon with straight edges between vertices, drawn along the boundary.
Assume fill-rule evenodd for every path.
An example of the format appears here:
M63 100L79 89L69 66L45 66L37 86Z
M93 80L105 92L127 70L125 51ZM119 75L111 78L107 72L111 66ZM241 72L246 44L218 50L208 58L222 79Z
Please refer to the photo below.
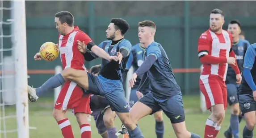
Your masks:
M126 49L128 51L128 55L130 55L131 43L126 39L122 39L116 45L111 45L112 41L103 41L100 45L98 45L101 49L104 49L106 53L109 53L110 56L116 56L120 49ZM91 52L91 55L97 57L94 53ZM122 81L122 73L126 68L126 63L128 61L129 56L122 59L121 64L119 65L119 61L107 61L102 59L101 63L101 72L99 73L101 76L110 79L110 80L121 80Z

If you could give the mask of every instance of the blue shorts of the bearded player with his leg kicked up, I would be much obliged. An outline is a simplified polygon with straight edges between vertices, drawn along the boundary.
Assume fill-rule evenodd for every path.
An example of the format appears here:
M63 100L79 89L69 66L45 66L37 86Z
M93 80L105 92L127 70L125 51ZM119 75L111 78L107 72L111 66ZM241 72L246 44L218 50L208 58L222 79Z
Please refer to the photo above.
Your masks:
M122 82L120 80L109 80L105 77L88 74L89 89L85 93L101 95L109 102L112 111L118 113L129 113L130 106L125 97Z

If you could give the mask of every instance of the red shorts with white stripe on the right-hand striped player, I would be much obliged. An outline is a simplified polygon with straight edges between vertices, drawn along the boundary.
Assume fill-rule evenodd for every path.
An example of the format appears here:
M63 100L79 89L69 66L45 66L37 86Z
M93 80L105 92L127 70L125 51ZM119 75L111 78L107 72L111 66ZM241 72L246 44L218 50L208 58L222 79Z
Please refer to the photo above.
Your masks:
M201 92L206 99L206 107L223 104L224 109L227 109L227 86L225 81L218 77L208 77L208 75L201 75L199 80Z

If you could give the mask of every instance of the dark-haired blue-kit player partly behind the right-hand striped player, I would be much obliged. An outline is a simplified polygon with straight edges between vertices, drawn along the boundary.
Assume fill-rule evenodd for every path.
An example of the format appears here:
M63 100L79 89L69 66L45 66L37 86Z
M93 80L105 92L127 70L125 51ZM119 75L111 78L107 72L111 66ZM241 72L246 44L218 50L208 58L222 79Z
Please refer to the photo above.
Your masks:
M237 61L238 68L240 73L243 72L243 57L245 52L250 45L248 41L239 39L239 34L241 33L241 24L238 20L232 20L228 24L228 32L232 34L232 49L235 53L235 58ZM240 76L240 74L237 74ZM241 77L240 77L241 78ZM231 106L231 117L230 117L230 126L227 131L225 131L224 135L226 138L239 138L239 122L242 120L242 116L239 115L239 103L237 97L237 90L241 83L237 81L236 74L234 69L232 69L231 65L228 65L227 69L227 77L226 77L226 85L227 85L227 101Z

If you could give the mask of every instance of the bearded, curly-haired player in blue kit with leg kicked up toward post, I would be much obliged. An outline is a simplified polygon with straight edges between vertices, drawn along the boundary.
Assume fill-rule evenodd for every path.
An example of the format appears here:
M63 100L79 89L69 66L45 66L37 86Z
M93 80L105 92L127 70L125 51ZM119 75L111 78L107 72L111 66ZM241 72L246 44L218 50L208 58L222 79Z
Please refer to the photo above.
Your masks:
M122 73L125 70L131 50L130 42L124 39L124 34L128 29L129 24L126 20L121 18L111 19L111 23L106 30L106 37L109 41L103 41L98 47L104 49L110 56L117 56L119 62L102 60L99 76L94 76L86 71L67 68L62 73L50 78L49 83L46 81L47 83L41 87L44 87L44 90L47 91L58 87L66 80L74 81L86 90L85 93L101 95L107 99L111 110L117 113L119 119L128 129L130 138L144 138L138 126L130 119L129 105L122 85ZM85 45L84 42L78 41L78 45L78 49L84 53L86 61L97 58L94 53L90 52L96 46L94 43ZM34 95L30 94L32 97ZM116 130L113 131L116 132ZM112 138L112 136L109 136L109 138Z

